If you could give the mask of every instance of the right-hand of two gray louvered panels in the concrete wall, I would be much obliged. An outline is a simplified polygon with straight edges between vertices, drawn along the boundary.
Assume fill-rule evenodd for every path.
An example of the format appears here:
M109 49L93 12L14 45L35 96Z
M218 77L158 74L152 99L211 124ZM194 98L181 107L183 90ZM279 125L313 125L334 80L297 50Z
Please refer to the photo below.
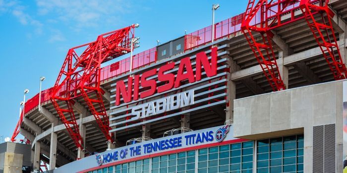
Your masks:
M335 173L335 124L324 126L324 173Z

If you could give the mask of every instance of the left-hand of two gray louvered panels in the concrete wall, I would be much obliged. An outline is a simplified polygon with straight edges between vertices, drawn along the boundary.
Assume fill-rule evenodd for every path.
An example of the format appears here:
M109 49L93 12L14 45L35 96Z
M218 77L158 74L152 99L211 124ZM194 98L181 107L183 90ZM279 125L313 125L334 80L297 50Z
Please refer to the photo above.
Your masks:
M313 173L323 173L323 159L324 159L324 127L313 127Z

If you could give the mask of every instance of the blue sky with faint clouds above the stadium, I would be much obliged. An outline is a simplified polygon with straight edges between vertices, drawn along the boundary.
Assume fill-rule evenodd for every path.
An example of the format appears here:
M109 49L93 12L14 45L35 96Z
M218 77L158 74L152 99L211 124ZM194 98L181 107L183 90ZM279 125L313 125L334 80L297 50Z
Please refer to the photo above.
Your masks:
M52 87L70 47L139 23L140 52L242 13L248 0L0 0L0 136L18 121L23 90L31 98ZM115 61L113 61L115 62ZM1 140L1 138L0 138ZM0 141L2 142L2 141Z

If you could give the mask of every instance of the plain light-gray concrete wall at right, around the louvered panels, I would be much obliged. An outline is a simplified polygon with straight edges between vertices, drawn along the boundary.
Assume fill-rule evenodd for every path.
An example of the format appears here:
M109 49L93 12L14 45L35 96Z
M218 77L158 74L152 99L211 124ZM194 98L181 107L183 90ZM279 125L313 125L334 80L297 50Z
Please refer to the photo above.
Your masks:
M312 172L313 127L336 124L336 167L343 161L343 82L234 100L234 137L261 139L304 133L304 172ZM322 163L323 164L323 163Z

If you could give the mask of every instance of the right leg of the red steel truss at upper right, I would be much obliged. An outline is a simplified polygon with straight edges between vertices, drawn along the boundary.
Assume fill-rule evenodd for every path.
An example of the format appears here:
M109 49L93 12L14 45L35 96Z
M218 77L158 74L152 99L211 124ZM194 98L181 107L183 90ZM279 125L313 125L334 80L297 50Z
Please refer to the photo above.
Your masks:
M301 0L300 9L334 75L334 79L342 80L347 78L347 70L331 22L334 12L328 4L329 0L321 0L319 6L311 4L310 0ZM315 13L318 14L315 15Z

